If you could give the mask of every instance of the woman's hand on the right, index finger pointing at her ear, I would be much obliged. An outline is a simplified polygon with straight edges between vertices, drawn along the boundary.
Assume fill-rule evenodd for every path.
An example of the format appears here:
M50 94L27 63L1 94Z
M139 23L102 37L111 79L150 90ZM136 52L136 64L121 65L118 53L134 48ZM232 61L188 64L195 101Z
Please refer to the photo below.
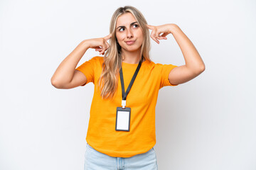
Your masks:
M146 24L147 28L152 30L150 37L158 44L159 40L167 40L166 35L169 35L169 33L171 33L170 28L172 25L172 23L164 24L161 26L150 26ZM160 35L161 33L163 34Z

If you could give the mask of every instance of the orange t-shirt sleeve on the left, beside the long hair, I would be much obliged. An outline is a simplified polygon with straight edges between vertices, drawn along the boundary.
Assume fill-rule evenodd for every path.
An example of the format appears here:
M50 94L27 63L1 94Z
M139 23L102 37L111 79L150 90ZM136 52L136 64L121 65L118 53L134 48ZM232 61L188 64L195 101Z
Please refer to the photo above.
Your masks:
M85 77L87 79L87 82L85 84L88 84L90 82L95 82L95 65L97 62L97 57L92 57L92 59L82 63L79 67L76 68L76 70L82 72L85 74ZM85 84L82 84L81 86L85 86Z

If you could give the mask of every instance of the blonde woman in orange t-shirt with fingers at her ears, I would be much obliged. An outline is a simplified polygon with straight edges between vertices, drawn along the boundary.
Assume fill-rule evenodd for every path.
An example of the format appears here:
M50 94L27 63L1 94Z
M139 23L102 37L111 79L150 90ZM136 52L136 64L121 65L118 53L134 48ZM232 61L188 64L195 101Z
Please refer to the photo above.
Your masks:
M150 37L159 44L170 33L181 47L184 65L155 64L150 60ZM89 48L104 57L92 57L76 68ZM85 169L157 169L154 145L159 89L183 84L204 69L196 47L176 24L150 26L137 8L117 8L110 35L80 42L51 79L58 89L95 84Z

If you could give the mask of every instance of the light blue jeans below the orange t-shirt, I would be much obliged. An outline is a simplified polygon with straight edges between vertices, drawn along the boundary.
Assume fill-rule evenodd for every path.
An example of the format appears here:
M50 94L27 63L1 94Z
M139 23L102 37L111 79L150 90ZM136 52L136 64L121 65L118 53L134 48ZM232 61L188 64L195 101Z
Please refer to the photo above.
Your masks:
M110 157L86 145L85 170L157 170L154 147L133 157Z

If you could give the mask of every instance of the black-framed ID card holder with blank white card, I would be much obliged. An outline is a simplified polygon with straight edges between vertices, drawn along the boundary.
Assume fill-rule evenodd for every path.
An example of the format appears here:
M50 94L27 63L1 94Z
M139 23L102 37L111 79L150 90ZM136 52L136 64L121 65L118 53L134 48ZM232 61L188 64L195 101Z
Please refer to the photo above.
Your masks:
M117 107L115 130L129 132L130 120L131 120L131 108Z

